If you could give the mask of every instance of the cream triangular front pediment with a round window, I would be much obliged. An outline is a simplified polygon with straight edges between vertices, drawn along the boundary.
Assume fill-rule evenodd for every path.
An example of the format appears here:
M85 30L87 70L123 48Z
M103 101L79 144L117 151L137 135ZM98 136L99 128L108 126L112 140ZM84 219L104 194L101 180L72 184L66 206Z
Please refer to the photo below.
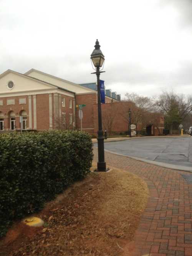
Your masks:
M0 75L0 94L49 90L51 88L56 87L12 70L7 70Z

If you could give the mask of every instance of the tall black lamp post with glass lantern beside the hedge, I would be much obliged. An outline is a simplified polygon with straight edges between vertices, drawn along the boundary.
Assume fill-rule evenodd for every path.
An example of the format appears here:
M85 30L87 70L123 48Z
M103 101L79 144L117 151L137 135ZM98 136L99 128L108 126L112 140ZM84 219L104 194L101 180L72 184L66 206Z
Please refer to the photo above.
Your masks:
M103 73L104 71L100 71L99 68L103 66L104 63L104 55L100 50L100 45L98 40L96 40L95 43L95 49L91 53L91 60L93 62L93 65L96 67L96 72L91 74L96 74L97 76L97 88L98 88L98 163L97 163L97 171L107 171L106 170L106 163L105 163L105 157L104 157L104 135L102 130L102 115L101 115L101 90L100 90L100 82L99 82L99 76L100 73Z

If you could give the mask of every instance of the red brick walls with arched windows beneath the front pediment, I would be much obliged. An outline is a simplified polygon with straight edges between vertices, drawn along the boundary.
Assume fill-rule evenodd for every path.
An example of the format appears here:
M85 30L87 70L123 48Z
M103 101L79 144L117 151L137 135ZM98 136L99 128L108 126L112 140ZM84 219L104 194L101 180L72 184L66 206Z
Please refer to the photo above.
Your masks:
M52 127L50 127L50 102L49 97L51 95L52 102ZM15 129L21 130L20 116L22 111L26 112L26 129L25 130L50 130L56 128L58 119L62 121L62 117L65 113L66 123L69 123L70 115L72 116L71 129L74 122L74 103L73 97L61 95L56 93L58 102L55 102L54 93L36 94L36 95L22 95L14 97L0 98L3 104L0 106L0 120L3 120L3 131L10 131L10 118L15 118ZM65 98L65 106L62 106L60 99ZM25 99L25 103L20 103L20 99ZM13 104L9 104L8 101L13 100ZM71 108L70 108L71 100ZM30 101L30 102L29 102ZM29 109L29 106L30 109ZM35 111L36 108L36 111ZM12 116L10 116L12 115ZM31 123L30 123L31 122ZM30 125L31 124L31 125Z

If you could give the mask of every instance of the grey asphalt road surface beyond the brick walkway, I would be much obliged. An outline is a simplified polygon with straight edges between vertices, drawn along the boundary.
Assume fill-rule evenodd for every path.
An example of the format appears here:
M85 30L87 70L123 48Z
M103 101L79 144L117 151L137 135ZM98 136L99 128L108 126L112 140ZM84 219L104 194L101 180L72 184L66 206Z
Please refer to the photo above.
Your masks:
M192 136L114 141L104 147L126 156L192 167Z

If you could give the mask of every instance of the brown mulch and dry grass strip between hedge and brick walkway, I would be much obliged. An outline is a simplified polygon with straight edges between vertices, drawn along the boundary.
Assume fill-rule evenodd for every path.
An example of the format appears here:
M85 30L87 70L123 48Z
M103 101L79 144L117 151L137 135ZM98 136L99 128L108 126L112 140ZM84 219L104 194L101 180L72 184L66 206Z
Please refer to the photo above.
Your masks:
M146 183L131 173L91 172L34 214L43 227L15 223L0 241L0 256L121 256L148 195Z

